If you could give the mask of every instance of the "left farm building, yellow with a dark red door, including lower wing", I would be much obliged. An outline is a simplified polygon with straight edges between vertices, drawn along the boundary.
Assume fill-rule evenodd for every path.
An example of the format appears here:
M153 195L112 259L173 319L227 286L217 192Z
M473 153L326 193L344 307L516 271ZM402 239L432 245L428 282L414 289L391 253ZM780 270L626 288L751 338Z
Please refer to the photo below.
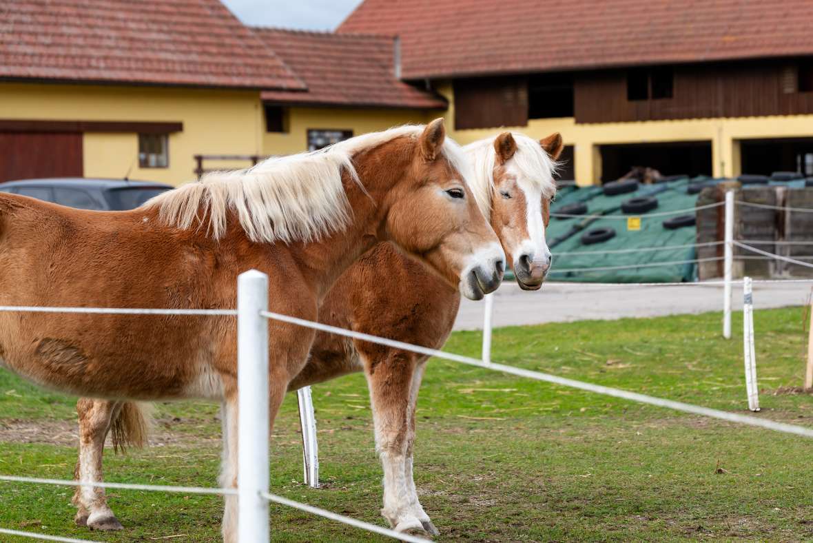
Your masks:
M246 167L441 115L392 69L392 37L249 28L219 0L2 2L0 181L177 185L200 155Z

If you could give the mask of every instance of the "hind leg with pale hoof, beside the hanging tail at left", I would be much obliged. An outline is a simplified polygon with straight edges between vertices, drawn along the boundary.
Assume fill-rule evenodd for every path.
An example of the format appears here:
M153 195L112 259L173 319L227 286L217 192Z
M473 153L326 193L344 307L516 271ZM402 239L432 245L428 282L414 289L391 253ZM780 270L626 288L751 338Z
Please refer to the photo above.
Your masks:
M102 482L102 455L107 432L121 409L120 402L80 398L76 402L79 413L79 459L74 476L82 482ZM122 525L107 506L104 489L90 486L76 487L73 504L78 508L75 521L79 526L93 530L120 530Z

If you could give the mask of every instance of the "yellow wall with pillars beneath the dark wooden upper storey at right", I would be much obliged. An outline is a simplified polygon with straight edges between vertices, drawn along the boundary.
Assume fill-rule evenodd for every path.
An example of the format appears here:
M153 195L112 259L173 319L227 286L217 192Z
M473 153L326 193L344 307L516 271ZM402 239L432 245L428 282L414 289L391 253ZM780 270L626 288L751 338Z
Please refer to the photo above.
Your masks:
M446 125L454 126L454 96L451 85L437 86L450 102ZM541 138L551 132L562 132L565 145L574 146L574 167L579 185L592 185L601 177L599 146L619 143L654 143L661 141L711 141L711 163L714 176L737 176L740 172L740 146L744 139L778 137L813 137L813 115L741 117L723 119L685 119L635 123L576 124L572 117L531 119L528 126L506 127ZM452 130L454 139L465 145L491 137L506 128Z

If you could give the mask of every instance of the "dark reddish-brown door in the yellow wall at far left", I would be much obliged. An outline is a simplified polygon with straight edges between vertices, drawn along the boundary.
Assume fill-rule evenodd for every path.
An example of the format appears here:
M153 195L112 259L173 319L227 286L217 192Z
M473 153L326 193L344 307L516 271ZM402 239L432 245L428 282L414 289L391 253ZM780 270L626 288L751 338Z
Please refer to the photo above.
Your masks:
M0 182L81 176L79 132L0 132Z

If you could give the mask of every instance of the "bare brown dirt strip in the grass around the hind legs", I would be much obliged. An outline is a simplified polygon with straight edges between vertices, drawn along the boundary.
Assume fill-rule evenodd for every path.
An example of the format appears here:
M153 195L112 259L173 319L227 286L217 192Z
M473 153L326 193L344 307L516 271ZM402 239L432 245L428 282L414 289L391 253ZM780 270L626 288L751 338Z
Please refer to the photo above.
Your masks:
M177 426L173 428L180 430ZM71 420L0 419L0 442L45 443L47 445L73 447L79 443L79 424ZM156 421L150 432L149 443L150 447L175 445L211 445L219 447L220 435L198 437L183 432L168 432L166 425L162 421ZM112 446L109 437L105 445Z

